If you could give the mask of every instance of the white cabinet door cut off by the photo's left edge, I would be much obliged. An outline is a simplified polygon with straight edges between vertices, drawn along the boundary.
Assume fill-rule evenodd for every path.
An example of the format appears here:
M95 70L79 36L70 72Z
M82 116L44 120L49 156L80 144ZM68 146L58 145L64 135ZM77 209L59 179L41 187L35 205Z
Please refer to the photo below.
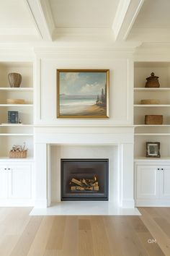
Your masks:
M9 170L6 166L0 166L0 198L8 197Z

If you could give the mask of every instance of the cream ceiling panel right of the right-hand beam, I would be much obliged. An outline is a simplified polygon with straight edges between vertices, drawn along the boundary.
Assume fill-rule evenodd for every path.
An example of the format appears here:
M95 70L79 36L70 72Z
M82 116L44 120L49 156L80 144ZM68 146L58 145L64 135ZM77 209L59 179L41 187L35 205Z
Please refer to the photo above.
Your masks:
M169 0L144 1L128 39L142 42L170 41L169 12Z

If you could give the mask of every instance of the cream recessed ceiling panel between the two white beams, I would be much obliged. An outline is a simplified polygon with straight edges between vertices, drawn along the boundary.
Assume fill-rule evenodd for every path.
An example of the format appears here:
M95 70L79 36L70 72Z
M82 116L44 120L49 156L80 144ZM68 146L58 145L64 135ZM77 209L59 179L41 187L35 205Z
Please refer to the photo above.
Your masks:
M55 27L112 27L120 0L49 0Z

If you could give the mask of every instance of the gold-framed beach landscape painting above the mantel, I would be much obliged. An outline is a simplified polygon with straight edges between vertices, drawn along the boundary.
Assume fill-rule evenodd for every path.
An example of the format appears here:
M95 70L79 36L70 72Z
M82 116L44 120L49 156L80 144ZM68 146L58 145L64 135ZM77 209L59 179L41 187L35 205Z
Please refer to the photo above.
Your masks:
M108 118L109 69L57 69L58 118Z

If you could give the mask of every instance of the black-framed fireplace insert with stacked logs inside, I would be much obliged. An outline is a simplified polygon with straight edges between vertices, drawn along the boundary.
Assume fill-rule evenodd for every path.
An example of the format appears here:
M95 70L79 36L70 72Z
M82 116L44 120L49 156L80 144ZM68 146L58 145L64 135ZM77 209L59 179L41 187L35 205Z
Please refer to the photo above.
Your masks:
M109 159L61 159L61 200L108 200Z

